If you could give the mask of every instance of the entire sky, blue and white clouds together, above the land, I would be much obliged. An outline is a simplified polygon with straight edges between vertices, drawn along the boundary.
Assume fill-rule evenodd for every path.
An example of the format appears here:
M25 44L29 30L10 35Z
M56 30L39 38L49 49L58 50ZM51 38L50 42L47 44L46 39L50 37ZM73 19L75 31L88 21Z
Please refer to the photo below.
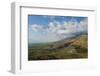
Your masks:
M28 15L28 41L55 42L87 32L87 27L87 17Z

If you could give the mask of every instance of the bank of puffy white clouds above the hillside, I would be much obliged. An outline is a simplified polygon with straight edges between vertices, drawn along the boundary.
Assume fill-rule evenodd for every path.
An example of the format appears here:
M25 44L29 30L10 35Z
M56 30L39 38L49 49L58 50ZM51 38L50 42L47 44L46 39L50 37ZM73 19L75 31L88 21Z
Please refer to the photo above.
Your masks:
M47 26L33 24L31 26L34 32L45 32L45 40L57 41L64 38L74 37L78 33L87 32L88 21L84 19L77 21L58 21L50 22ZM42 35L43 36L43 35ZM41 37L42 38L42 37Z

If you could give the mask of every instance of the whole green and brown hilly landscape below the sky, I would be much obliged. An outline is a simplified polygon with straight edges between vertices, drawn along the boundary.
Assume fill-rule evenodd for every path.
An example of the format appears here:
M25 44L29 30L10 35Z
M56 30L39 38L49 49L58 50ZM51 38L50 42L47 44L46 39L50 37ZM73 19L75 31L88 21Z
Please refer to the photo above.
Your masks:
M52 43L29 44L28 60L88 58L87 42L87 35L81 35Z

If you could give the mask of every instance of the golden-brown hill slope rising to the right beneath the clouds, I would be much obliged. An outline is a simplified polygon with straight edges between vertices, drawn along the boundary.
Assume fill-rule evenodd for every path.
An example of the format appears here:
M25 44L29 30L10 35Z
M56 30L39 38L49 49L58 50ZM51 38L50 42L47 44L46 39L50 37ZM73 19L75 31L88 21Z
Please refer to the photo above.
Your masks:
M80 46L82 48L87 47L87 35L80 35L78 37L73 37L70 39L63 39L54 43L51 43L52 48L65 48L68 46Z

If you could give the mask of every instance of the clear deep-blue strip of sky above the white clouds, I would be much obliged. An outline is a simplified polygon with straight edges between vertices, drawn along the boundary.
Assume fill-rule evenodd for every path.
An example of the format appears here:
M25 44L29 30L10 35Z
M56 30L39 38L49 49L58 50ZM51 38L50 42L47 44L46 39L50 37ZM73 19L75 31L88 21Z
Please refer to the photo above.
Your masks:
M47 26L49 22L53 22L54 20L63 22L63 21L70 21L72 19L80 22L81 20L85 19L86 17L73 17L73 16L41 16L41 15L29 15L29 25L38 24Z

